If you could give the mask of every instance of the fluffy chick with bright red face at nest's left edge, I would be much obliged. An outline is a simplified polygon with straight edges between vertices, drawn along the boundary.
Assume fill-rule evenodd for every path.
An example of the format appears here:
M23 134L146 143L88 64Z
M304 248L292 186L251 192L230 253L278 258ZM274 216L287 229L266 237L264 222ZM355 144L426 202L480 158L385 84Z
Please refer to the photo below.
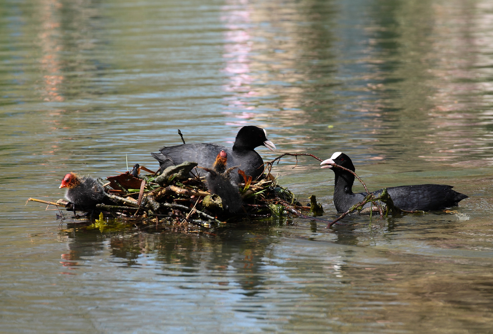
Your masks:
M67 188L65 198L80 210L91 211L96 207L96 204L112 203L106 197L103 187L91 176L68 173L62 180L61 188Z

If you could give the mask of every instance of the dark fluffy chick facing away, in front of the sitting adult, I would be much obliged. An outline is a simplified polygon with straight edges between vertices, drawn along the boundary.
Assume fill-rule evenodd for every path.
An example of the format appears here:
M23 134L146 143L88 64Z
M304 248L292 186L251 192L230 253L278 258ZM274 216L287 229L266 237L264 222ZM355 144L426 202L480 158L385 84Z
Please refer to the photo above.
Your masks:
M237 183L231 179L231 170L226 169L227 153L219 152L212 168L203 168L209 173L206 175L207 188L211 194L217 194L221 198L222 207L230 213L238 213L242 208L242 199L238 191Z

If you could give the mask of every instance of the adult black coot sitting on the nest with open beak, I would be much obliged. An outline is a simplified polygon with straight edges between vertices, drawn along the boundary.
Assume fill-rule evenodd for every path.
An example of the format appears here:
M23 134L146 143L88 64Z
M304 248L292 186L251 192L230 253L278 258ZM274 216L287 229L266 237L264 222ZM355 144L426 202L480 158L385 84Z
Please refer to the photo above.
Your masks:
M251 175L253 179L262 174L262 157L254 151L255 147L265 146L271 151L276 150L276 145L267 139L267 132L255 126L246 126L240 129L236 135L233 148L213 143L201 144L182 144L171 147L163 147L160 153L151 153L159 161L159 169L163 171L166 167L179 165L184 161L193 161L199 166L211 166L215 161L215 156L220 151L225 151L228 156L228 163L231 166L238 166L245 171L246 175ZM236 182L241 182L240 175L231 176Z

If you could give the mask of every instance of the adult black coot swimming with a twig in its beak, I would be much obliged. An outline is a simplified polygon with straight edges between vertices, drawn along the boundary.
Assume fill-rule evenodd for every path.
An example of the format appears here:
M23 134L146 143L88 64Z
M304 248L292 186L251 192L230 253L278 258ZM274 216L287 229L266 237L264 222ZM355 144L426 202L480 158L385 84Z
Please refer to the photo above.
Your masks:
M332 168L326 164L337 164L354 171L351 159L342 152L335 152L330 159L324 160L320 168ZM345 212L349 208L362 201L366 193L352 193L354 175L341 168L332 168L335 174L334 185L334 205L339 212ZM399 186L387 188L387 192L392 198L394 205L402 210L421 210L433 211L447 207L456 206L459 201L466 199L467 196L452 190L452 186L444 184L420 184L413 186ZM372 194L379 196L382 189L374 191Z

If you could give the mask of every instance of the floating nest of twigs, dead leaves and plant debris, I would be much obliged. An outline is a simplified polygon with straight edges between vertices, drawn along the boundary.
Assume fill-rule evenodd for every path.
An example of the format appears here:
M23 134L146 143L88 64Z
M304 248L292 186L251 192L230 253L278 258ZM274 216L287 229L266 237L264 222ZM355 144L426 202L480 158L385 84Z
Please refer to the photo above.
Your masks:
M140 174L140 171L148 174ZM103 224L104 217L132 219L134 224L166 224L175 230L189 230L193 225L195 230L208 231L228 223L279 218L286 214L309 219L323 214L315 196L310 197L309 206L302 205L291 191L279 185L270 168L257 180L239 172L244 178L238 185L243 206L237 213L230 213L223 207L223 200L211 194L205 177L198 176L197 164L190 162L168 167L160 175L140 167L137 176L127 171L106 180L98 178L114 205L96 204L84 216L77 215L78 208L64 199L56 202L29 200L65 207L77 220L93 223L96 219L93 223L96 226ZM190 174L195 176L189 177Z

